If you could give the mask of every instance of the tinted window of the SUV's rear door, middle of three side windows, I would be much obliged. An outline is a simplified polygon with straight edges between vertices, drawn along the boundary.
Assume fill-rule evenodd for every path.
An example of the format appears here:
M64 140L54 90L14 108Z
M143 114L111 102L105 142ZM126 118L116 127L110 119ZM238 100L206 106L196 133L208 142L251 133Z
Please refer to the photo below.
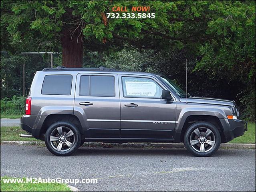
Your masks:
M113 76L81 76L80 96L115 97Z

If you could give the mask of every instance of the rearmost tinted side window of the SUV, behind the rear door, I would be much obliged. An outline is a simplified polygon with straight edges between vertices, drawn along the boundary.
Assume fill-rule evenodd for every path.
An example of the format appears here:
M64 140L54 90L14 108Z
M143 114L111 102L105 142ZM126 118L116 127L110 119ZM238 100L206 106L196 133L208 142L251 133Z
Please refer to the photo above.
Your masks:
M46 75L42 94L71 95L72 75Z

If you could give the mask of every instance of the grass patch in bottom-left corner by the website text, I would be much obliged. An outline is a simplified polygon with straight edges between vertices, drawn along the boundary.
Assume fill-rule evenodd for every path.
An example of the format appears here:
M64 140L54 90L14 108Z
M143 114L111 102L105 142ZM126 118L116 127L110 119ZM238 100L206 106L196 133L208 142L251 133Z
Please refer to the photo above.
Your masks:
M66 184L59 183L4 183L4 179L11 177L1 177L1 191L71 191ZM26 180L26 178L23 178Z

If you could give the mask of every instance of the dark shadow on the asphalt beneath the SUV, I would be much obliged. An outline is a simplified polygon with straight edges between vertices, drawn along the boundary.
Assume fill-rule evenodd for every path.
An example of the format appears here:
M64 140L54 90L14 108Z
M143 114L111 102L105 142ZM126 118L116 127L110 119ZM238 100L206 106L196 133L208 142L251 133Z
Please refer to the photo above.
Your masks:
M37 150L34 150L34 147ZM31 148L28 151L28 148ZM44 146L26 146L20 150L26 150L29 154L38 154L40 156L55 156L50 153ZM186 148L150 148L150 147L80 147L70 157L75 156L183 156L188 158L226 158L246 156L251 154L251 150L255 149L234 149L234 148L220 148L218 151L210 157L196 157L189 153ZM18 150L16 151L18 152ZM31 154L32 155L32 154ZM55 156L57 157L57 156ZM61 157L60 157L61 158ZM63 157L64 158L64 157Z

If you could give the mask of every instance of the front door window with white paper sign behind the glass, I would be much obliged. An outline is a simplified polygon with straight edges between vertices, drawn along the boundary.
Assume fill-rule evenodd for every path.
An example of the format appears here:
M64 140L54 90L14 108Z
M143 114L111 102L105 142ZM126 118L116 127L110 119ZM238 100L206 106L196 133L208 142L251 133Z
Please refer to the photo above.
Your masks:
M162 88L150 78L122 77L124 97L161 98Z

